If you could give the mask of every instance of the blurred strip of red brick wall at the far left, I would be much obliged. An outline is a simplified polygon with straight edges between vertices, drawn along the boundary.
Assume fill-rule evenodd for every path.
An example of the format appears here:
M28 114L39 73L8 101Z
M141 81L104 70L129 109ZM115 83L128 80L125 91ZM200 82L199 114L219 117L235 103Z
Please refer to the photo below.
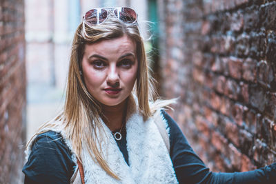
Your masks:
M23 0L0 2L0 183L23 183L26 70Z

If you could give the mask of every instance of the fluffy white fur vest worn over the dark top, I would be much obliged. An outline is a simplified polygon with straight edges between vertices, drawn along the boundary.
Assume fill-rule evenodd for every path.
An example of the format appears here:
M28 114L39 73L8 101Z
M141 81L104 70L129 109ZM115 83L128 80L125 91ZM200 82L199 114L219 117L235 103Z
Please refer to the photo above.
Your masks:
M128 117L126 122L126 146L129 166L124 160L112 132L106 125L103 125L103 127L108 135L108 144L102 145L103 156L106 158L110 169L121 180L117 181L109 176L90 158L88 152L84 152L83 170L87 184L178 183L170 155L152 118L145 122L143 116L137 112Z

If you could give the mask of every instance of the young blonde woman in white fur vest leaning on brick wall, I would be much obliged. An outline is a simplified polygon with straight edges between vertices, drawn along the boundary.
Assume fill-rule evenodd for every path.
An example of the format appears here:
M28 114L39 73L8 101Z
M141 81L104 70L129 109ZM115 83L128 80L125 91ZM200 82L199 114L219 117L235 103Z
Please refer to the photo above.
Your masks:
M25 183L273 183L276 164L213 173L153 101L137 14L86 12L72 43L63 112L27 147Z

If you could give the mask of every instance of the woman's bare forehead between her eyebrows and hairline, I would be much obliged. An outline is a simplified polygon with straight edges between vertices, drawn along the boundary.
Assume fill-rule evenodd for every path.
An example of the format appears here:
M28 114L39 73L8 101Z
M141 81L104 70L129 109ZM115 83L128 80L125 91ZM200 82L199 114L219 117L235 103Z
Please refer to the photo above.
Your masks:
M136 43L126 35L115 39L106 39L97 43L85 45L84 54L124 54L132 52L136 54Z

